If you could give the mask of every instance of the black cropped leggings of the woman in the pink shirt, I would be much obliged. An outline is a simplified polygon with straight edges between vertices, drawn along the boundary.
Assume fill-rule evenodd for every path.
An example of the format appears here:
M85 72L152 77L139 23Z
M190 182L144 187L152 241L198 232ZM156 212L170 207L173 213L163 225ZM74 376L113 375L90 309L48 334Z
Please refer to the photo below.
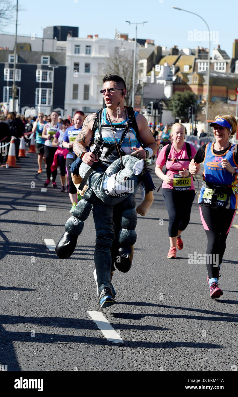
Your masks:
M169 237L176 237L178 230L185 230L189 224L195 191L162 189L162 194L168 211L168 235Z

